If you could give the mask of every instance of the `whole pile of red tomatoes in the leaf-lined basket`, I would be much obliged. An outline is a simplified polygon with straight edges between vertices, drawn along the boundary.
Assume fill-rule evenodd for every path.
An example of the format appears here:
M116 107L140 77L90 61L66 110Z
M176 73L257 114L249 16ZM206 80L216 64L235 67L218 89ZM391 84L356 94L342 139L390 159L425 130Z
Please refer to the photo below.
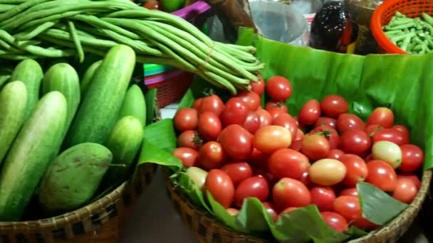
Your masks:
M262 108L265 90L271 101ZM313 204L343 232L350 225L377 228L362 217L358 182L412 202L424 153L409 144L407 127L394 124L391 109L377 107L362 121L348 113L344 97L328 95L309 100L292 117L291 95L291 83L273 76L225 103L217 95L197 99L174 116L174 156L231 215L249 197L258 198L273 220Z

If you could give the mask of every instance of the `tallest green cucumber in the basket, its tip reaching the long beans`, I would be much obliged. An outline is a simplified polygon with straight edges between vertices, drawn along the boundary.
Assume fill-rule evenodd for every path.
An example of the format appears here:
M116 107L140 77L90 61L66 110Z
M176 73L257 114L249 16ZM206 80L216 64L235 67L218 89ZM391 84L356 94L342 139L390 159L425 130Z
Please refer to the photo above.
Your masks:
M67 147L86 142L104 144L113 129L135 68L135 53L115 45L93 76L66 136Z

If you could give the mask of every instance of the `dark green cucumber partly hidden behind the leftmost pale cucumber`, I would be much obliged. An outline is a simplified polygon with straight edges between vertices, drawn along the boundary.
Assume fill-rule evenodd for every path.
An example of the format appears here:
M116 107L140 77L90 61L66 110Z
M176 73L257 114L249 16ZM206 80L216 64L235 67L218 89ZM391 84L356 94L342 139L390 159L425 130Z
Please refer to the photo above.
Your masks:
M12 72L10 81L22 81L27 87L27 107L24 120L28 119L39 100L39 90L43 78L43 70L36 60L22 60Z

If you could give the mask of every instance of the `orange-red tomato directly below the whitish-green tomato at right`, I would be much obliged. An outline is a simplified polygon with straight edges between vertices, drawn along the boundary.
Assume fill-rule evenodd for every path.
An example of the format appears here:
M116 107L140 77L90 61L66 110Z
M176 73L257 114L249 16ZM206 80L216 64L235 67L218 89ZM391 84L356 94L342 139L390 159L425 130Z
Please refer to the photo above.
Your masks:
M397 174L385 161L373 160L367 162L368 175L365 182L375 185L380 190L392 192L397 185Z

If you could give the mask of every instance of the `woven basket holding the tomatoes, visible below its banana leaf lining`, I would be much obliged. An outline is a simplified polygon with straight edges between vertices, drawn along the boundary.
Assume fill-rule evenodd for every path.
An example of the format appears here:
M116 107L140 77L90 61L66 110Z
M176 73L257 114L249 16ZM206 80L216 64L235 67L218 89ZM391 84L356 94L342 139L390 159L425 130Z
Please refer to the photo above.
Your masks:
M353 239L350 243L379 243L379 242L397 242L397 239L409 229L412 222L417 217L422 203L429 192L429 184L432 180L432 171L424 171L422 175L422 184L419 188L417 197L405 211L403 211L394 220L387 223L384 227L377 229L365 237ZM167 179L167 192L172 200L174 208L182 216L184 224L193 230L195 237L200 243L265 243L275 242L271 239L261 239L248 234L235 232L217 221L212 215L192 205L174 185Z

